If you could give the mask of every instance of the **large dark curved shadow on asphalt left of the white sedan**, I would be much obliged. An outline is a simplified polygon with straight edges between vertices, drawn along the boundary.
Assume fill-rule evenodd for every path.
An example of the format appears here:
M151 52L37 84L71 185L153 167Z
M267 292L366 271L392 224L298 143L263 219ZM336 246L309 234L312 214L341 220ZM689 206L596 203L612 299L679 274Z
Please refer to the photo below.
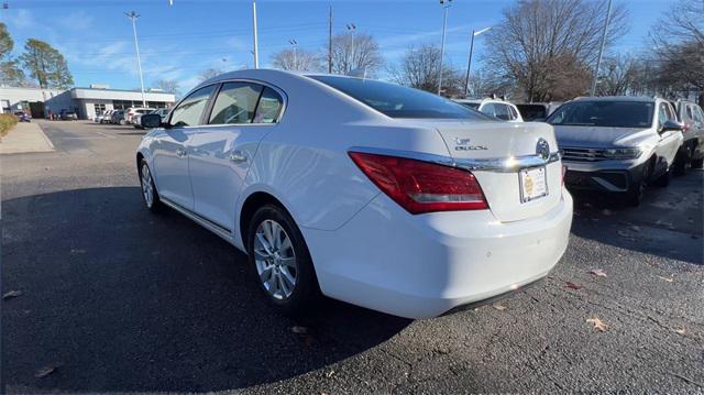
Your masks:
M274 314L246 257L138 187L2 201L2 375L12 392L208 392L324 372L411 321L327 300ZM36 377L43 367L51 374Z

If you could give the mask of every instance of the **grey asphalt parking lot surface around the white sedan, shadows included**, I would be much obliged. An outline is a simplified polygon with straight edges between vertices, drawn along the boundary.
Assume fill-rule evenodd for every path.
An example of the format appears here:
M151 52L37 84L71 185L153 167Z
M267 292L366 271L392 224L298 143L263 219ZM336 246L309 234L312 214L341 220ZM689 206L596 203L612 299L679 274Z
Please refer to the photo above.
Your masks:
M3 393L704 391L702 171L636 209L578 196L556 270L494 305L295 321L242 253L143 208L141 131L41 124L55 152L0 157Z

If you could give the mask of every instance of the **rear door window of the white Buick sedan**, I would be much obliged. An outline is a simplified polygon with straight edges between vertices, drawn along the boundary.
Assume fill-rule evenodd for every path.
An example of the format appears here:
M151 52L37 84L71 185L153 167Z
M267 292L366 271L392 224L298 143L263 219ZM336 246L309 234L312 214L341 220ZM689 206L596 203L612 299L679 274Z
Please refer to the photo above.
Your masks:
M250 83L226 83L210 112L210 124L252 123L262 86Z

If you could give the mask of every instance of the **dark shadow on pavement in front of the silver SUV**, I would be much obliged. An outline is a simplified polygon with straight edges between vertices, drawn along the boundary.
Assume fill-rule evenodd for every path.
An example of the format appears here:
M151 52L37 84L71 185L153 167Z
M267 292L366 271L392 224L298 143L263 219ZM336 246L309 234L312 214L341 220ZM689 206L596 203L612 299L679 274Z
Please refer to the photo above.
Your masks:
M573 193L572 233L623 249L704 264L702 179L693 171L668 188L649 188L639 207L616 196Z

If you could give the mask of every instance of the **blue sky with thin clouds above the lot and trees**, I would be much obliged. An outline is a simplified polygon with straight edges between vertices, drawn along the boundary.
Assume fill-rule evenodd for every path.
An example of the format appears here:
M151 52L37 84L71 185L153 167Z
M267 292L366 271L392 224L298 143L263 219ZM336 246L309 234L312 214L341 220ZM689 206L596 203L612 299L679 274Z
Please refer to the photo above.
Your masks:
M15 41L14 55L29 37L43 40L62 51L76 86L107 84L112 88L140 86L130 20L135 10L144 83L176 79L187 91L207 68L222 70L252 66L252 17L250 0L1 0L0 10ZM639 51L646 35L671 0L615 0L629 11L630 31L615 51ZM513 0L454 0L448 20L447 56L464 68L472 29L495 24ZM410 44L439 43L442 8L437 0L297 1L257 0L260 66L267 67L272 54L289 47L322 51L327 45L328 10L334 11L334 32L354 23L358 32L374 35L387 63L395 63ZM487 48L481 37L475 58L481 63ZM474 61L473 61L474 62ZM477 64L473 63L473 69Z

